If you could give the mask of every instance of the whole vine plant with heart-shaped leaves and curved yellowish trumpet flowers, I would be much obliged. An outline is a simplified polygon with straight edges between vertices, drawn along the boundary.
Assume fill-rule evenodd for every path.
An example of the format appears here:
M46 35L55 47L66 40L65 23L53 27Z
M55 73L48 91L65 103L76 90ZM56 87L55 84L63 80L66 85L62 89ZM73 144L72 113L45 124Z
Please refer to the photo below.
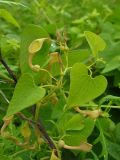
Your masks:
M86 49L70 50L64 39L56 42L55 49L52 48L55 40L41 27L29 25L24 30L20 54L21 75L4 117L1 129L4 137L27 149L37 149L47 142L52 149L50 160L61 159L61 148L72 150L73 153L75 150L91 152L92 144L87 139L94 130L96 120L105 114L100 106L93 108L91 105L87 109L84 105L93 103L106 90L106 78L92 72L92 65L100 60L99 53L106 44L92 32L86 31L84 35L92 54ZM54 113L54 105L59 112L58 117L50 119L58 128L55 139L48 135L39 121L42 117L41 109L46 110L45 106L52 106ZM24 113L28 107L35 111L31 118L27 118ZM21 129L25 139L23 144L6 131L14 116L27 122ZM35 130L31 132L33 125ZM33 134L37 138L31 144Z

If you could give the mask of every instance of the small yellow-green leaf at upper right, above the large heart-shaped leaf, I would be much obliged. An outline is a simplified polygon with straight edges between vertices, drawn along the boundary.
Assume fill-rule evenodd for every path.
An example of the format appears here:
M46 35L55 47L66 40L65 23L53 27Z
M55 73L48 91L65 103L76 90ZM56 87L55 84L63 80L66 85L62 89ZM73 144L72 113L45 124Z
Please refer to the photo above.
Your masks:
M85 31L84 34L90 45L93 56L98 57L98 52L103 51L106 47L105 41L100 36L90 31Z

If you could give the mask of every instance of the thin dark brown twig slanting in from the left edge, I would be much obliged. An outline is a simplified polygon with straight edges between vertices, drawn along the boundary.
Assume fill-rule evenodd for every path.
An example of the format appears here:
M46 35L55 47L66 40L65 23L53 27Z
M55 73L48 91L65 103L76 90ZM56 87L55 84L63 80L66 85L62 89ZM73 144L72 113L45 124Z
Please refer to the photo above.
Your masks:
M0 50L0 62L2 63L2 65L5 67L5 69L8 71L9 75L11 76L11 78L14 80L15 83L17 83L17 78L15 76L15 74L13 73L13 71L10 69L10 67L8 66L8 64L5 62L5 60L2 57L1 54L1 50Z

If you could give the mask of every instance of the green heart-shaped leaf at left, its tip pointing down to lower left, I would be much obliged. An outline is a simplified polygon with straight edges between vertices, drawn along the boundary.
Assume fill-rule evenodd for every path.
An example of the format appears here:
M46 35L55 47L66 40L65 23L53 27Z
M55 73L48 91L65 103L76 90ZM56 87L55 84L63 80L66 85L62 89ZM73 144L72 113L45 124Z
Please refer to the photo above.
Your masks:
M6 117L11 116L40 101L45 95L45 89L35 85L30 74L23 74L14 90Z

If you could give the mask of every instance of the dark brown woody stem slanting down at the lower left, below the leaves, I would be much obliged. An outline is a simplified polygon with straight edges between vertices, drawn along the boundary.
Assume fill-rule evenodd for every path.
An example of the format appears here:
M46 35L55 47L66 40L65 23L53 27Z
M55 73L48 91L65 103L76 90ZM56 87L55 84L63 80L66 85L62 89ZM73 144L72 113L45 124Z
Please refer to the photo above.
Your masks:
M22 113L18 113L17 115L18 115L20 118L22 118L23 120L26 120L26 121L28 121L28 122L30 122L30 123L38 126L38 128L39 128L42 136L43 136L43 137L45 138L45 140L47 141L49 147L50 147L52 150L55 151L55 155L58 157L57 148L56 148L54 142L53 142L53 141L51 140L51 138L49 137L48 133L46 132L46 130L45 130L45 128L44 128L41 120L39 120L39 122L35 122L35 121L33 121L33 120L25 117Z

